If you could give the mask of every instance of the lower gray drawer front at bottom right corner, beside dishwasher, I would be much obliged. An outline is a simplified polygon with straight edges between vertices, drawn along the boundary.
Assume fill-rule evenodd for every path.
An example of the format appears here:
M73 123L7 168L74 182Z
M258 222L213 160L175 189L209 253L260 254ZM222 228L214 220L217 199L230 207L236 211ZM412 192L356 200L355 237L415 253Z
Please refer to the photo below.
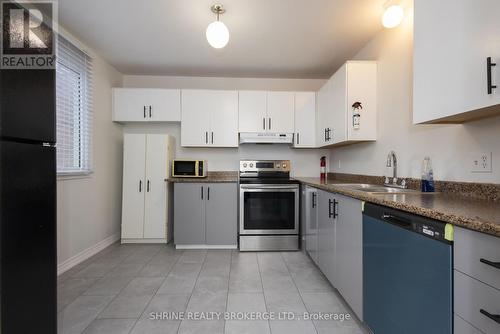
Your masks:
M500 324L482 314L500 314L500 291L459 271L455 274L455 313L485 334L500 333Z

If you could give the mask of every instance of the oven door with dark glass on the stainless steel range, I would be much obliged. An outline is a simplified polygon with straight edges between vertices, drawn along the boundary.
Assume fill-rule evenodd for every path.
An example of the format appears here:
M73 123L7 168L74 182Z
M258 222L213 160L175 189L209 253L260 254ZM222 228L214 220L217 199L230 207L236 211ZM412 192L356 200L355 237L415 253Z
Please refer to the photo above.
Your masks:
M299 185L240 185L240 234L298 234Z

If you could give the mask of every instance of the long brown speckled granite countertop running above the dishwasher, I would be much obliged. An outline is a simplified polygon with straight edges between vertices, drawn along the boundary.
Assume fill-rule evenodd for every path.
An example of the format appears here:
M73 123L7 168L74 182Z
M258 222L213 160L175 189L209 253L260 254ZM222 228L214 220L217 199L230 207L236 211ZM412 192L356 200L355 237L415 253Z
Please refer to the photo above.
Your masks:
M500 202L498 201L444 192L370 194L338 186L342 183L351 182L328 180L325 183L314 177L296 177L295 179L303 184L326 191L500 237Z

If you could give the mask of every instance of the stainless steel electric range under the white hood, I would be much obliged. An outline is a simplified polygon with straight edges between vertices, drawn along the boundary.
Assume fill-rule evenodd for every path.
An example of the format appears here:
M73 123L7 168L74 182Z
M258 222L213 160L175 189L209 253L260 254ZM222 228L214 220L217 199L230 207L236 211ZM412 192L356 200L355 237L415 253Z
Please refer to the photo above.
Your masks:
M299 249L299 182L289 160L242 160L239 173L240 251Z

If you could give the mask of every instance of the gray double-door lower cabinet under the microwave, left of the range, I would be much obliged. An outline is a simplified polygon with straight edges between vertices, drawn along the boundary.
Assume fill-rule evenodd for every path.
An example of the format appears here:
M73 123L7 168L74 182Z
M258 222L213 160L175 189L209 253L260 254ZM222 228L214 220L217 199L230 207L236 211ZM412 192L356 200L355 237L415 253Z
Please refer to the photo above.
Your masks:
M176 183L176 246L236 246L236 183Z

